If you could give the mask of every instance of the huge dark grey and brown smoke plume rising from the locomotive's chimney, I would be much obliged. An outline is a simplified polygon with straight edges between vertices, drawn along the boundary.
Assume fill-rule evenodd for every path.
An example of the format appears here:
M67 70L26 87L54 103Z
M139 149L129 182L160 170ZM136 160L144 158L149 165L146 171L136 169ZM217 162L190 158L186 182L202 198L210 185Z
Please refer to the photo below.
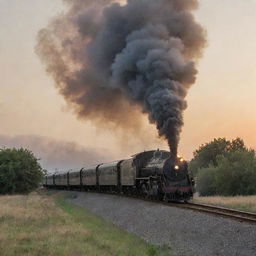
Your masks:
M177 153L185 97L205 32L197 0L64 0L40 31L37 52L82 119L136 136L141 113ZM139 134L139 132L137 133Z

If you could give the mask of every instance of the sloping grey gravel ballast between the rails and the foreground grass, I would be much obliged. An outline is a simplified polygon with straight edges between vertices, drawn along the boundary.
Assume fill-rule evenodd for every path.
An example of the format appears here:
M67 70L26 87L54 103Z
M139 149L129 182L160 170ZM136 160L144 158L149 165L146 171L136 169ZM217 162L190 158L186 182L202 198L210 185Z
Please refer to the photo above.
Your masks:
M71 201L177 256L256 256L256 225L114 195Z

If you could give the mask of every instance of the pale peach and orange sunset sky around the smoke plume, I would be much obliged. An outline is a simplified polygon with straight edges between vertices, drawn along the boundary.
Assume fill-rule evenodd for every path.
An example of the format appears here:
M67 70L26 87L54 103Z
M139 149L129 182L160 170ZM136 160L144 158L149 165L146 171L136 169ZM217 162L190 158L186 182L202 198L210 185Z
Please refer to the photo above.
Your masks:
M195 16L207 30L208 46L187 96L179 146L187 159L202 143L217 137L241 137L256 148L256 1L199 3ZM0 147L29 147L30 138L37 138L42 144L36 148L39 157L47 158L43 142L50 141L47 145L56 148L56 155L60 145L72 143L80 153L100 152L99 161L104 154L112 160L148 149L139 142L126 148L115 131L78 120L58 94L34 48L38 31L63 11L61 0L0 0ZM167 148L153 137L149 145ZM61 168L56 159L54 164Z

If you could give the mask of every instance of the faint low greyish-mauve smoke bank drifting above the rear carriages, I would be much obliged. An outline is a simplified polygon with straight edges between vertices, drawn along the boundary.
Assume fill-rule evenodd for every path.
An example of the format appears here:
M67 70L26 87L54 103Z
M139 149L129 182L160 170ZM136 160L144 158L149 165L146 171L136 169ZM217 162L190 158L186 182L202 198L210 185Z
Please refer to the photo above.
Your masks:
M112 159L105 149L84 148L73 142L56 141L41 136L0 135L0 148L26 148L31 150L40 164L49 172L64 172Z

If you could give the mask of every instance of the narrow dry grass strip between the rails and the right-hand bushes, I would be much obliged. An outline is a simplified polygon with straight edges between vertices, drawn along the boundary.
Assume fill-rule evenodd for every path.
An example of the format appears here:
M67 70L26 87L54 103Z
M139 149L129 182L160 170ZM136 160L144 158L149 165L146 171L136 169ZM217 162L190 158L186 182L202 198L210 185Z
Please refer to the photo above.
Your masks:
M209 196L209 197L195 197L193 202L212 204L232 208L241 211L256 213L256 196Z

